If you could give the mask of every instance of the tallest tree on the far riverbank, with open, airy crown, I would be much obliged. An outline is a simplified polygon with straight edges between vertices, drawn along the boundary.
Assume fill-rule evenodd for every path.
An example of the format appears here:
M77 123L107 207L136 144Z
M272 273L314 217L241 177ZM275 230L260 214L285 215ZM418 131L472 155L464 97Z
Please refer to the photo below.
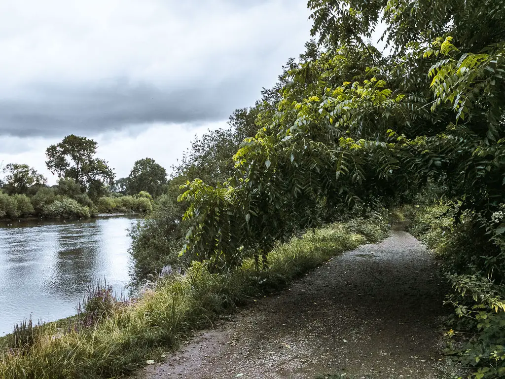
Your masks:
M86 189L93 187L99 193L100 186L114 180L114 172L107 162L95 158L98 144L92 139L67 135L57 145L51 145L45 151L47 168L60 178L71 178Z

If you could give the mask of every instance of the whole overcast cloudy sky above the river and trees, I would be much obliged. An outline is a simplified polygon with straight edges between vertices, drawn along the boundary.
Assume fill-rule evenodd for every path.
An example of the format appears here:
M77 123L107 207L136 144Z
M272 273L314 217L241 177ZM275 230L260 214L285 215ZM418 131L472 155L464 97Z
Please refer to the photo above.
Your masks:
M45 149L95 139L117 177L169 170L253 105L310 38L307 0L2 0L0 163L49 178Z

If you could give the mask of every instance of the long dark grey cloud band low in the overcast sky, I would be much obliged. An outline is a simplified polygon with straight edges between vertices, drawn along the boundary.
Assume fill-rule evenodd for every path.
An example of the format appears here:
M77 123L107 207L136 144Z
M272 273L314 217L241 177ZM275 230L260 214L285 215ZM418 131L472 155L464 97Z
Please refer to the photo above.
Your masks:
M104 130L140 128L152 122L201 123L222 120L230 109L251 104L241 91L247 80L227 80L212 87L158 88L150 84L64 88L37 86L37 99L0 102L0 134L95 135Z

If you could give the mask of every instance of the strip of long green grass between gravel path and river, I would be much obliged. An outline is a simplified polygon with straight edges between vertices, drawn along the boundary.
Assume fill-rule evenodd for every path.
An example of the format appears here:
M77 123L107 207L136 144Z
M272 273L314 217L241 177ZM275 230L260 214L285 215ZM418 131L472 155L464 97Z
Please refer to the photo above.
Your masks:
M387 235L381 218L335 223L277 246L270 269L258 272L254 260L227 273L210 273L193 263L185 275L161 278L138 299L118 304L88 327L46 324L35 330L33 345L0 353L1 378L115 378L160 361L193 330L211 326L220 315L255 296L287 285L295 277L343 251ZM2 341L0 341L0 347Z

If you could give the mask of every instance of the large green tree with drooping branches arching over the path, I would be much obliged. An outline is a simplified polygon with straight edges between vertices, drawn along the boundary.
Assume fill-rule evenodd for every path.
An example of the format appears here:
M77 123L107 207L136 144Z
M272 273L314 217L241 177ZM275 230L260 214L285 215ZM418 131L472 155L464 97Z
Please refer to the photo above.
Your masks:
M320 49L289 62L230 179L186 187L186 251L239 262L321 223L322 204L369 207L428 182L489 220L505 202L501 5L310 1ZM380 21L389 57L367 42Z

